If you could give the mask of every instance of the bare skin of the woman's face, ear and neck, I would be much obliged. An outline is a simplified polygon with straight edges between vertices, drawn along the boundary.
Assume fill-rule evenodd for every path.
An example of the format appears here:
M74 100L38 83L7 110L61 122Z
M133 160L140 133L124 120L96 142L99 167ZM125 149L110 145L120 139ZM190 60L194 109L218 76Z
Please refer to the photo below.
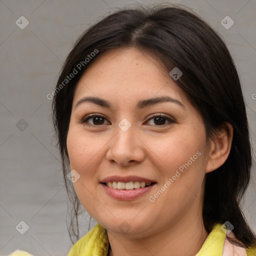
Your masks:
M92 102L75 104L84 96L109 101L111 109ZM138 110L139 100L171 96ZM88 114L93 118L81 123ZM173 120L148 119L165 114ZM155 117L156 117L155 116ZM118 123L126 118L131 127L123 131ZM165 123L163 125L163 123ZM78 81L67 135L70 168L80 177L73 183L87 212L107 230L109 255L195 255L208 233L202 220L203 185L206 172L226 160L232 127L226 123L206 144L202 118L189 103L157 59L135 48L109 50L97 57ZM154 195L178 167L201 153L158 197ZM106 194L99 182L111 175L137 175L157 182L145 195L134 200L117 200ZM126 221L128 232L119 225Z

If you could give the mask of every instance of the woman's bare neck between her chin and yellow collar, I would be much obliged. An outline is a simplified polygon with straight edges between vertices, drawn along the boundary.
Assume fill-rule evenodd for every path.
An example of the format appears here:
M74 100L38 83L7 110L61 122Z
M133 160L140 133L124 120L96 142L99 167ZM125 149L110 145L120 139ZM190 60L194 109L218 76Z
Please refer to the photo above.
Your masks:
M129 237L107 231L110 241L108 256L194 256L201 248L208 233L202 219L191 222L183 219L175 224L161 229L154 235L142 238L131 235Z

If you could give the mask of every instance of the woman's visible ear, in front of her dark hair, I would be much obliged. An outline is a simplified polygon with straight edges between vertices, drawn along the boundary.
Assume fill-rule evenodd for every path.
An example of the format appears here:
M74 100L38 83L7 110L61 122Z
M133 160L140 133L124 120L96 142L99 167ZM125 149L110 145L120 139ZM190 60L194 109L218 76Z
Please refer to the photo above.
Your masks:
M217 169L225 162L231 149L232 138L233 127L230 123L224 122L216 131L214 139L210 141L206 173Z

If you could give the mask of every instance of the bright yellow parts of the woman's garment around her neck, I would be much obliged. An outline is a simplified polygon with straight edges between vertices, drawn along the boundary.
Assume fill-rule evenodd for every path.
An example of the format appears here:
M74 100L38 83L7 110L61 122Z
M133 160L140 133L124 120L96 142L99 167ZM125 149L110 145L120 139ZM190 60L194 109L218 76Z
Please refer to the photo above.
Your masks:
M195 256L222 256L225 232L215 223L200 250ZM86 235L79 239L67 256L107 256L109 241L106 230L96 224ZM256 246L246 249L247 256L256 256Z

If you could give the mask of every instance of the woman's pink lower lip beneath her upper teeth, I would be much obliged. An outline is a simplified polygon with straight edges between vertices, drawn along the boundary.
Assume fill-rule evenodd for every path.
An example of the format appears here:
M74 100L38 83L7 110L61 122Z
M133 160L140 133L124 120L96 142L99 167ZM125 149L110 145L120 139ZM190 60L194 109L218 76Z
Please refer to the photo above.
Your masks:
M100 185L105 189L108 195L115 199L133 200L147 193L155 185L155 183L150 186L127 190L110 188L109 186L106 186L103 183L100 183Z

